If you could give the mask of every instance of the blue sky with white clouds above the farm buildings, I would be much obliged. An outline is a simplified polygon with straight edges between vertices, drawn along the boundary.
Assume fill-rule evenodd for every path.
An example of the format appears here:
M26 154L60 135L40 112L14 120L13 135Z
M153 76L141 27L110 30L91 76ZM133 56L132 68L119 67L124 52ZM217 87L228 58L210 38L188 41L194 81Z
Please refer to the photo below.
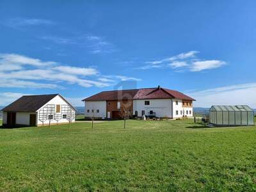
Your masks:
M255 14L255 1L1 1L0 105L161 85L256 108Z

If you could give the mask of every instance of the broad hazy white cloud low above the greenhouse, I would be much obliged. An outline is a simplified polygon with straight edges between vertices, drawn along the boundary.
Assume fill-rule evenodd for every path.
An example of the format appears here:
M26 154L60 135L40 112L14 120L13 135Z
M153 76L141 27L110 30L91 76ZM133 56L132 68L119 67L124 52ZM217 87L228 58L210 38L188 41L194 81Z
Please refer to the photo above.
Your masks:
M188 93L196 99L195 107L209 108L212 105L243 105L256 108L256 83L235 84Z

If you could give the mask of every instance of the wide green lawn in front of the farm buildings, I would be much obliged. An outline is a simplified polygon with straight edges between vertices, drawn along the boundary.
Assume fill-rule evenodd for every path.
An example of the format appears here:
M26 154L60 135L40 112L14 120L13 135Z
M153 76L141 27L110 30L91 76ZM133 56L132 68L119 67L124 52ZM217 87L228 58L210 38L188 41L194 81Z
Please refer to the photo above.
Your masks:
M0 129L0 191L256 191L255 127L122 127Z

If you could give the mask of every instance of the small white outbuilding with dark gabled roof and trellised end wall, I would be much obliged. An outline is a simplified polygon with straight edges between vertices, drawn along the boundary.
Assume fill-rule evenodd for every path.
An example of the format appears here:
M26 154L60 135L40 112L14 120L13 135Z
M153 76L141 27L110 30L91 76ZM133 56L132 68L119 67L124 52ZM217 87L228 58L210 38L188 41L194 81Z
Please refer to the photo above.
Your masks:
M76 115L76 109L60 94L22 96L1 111L4 127L67 124Z

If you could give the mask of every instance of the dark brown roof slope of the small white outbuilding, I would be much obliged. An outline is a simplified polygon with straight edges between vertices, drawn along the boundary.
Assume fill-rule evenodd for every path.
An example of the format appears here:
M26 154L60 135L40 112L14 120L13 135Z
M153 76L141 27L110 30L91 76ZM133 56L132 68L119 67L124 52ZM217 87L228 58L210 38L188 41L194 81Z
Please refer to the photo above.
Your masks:
M6 106L1 111L35 112L57 95L58 94L25 95L12 102L12 104Z

